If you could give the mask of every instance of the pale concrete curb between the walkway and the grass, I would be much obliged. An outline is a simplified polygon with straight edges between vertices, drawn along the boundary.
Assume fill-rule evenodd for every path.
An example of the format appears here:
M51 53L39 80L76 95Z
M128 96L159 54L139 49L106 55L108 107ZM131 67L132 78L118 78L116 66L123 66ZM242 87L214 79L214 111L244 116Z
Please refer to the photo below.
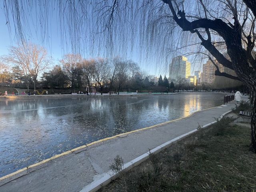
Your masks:
M224 117L224 115L228 114L230 111L225 112L224 114L222 114L219 118L222 119ZM214 123L216 123L217 121L208 123L204 126L202 126L202 128L206 128ZM184 138L187 138L188 136L190 136L191 134L193 134L194 132L198 131L198 129L194 129L188 133L185 133L181 136L178 136L168 142L165 142L164 144L150 150L150 152L147 152L145 154L142 154L141 156L131 160L130 162L127 162L126 164L124 164L124 172L127 172L129 170L131 170L132 168L134 168L135 166L138 166L139 164L141 164L142 162L144 162L145 160L148 159L150 153L153 154L157 154L158 152L170 147L171 145L177 143L180 140L183 140ZM107 184L109 184L111 181L115 180L116 178L118 178L118 173L113 172L112 170L101 174L101 178L98 180L93 181L92 183L88 184L87 186L85 186L82 190L80 190L80 192L96 192L97 190L99 190L100 188L106 186Z

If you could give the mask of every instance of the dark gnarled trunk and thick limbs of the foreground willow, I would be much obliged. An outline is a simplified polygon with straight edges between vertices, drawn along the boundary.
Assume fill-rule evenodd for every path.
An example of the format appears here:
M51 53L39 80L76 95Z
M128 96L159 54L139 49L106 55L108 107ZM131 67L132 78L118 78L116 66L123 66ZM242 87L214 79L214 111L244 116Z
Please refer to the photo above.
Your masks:
M200 44L223 66L234 70L238 77L220 72L215 75L241 80L250 90L251 102L251 144L250 150L256 153L256 60L252 55L256 40L256 0L225 0L216 2L222 12L214 12L211 3L202 0L195 2L200 9L190 12L191 2L163 0L170 8L173 20L183 31L196 34ZM253 3L252 3L253 2ZM186 14L188 12L189 14ZM230 60L218 49L214 41L218 36L224 44ZM217 44L218 45L218 44Z

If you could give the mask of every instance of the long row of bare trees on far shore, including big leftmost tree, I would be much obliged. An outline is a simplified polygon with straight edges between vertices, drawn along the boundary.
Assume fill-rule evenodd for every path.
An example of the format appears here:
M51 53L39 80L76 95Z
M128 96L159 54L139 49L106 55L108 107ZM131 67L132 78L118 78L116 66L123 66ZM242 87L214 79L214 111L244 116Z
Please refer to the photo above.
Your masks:
M31 80L36 90L38 75L42 74L42 81L46 82L47 87L72 87L75 92L75 87L89 86L90 90L92 84L97 84L101 94L106 84L110 86L110 90L115 84L119 92L128 80L132 82L135 74L140 72L137 63L120 57L113 60L84 59L80 54L66 54L59 62L59 65L50 70L53 59L43 46L18 44L11 46L9 54L1 57L0 70L12 66L12 72L16 74L14 80L24 82L28 90ZM45 72L46 70L49 72Z

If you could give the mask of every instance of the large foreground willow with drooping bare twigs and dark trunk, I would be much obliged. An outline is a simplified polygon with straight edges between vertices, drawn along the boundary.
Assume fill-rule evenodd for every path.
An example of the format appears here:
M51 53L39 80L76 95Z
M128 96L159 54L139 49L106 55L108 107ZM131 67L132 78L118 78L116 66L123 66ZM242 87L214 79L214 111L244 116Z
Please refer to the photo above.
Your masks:
M35 15L35 10L40 12ZM196 60L201 59L200 53L234 70L237 76L218 68L215 74L248 87L250 150L256 153L256 0L4 1L7 25L10 30L15 26L20 39L30 33L26 30L29 15L39 21L33 23L41 27L42 40L48 37L47 22L55 11L60 15L62 45L70 43L74 52L83 50L92 57L136 54L147 65L157 63L166 69L178 53L196 54Z

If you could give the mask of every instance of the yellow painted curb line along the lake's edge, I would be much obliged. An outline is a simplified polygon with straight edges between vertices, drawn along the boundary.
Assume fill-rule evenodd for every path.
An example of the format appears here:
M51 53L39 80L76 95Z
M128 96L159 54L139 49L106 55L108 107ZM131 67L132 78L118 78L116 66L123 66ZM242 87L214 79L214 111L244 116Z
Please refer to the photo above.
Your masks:
M223 106L223 104L220 105L220 106ZM30 165L30 166L25 167L25 168L22 168L22 169L20 169L20 170L18 170L18 171L16 171L16 172L13 172L13 173L11 173L11 174L8 174L8 175L6 175L6 176L1 177L1 178L0 178L0 186L6 184L6 183L8 183L8 182L10 182L10 181L12 181L12 180L14 180L14 179L16 179L16 178L19 178L19 177L25 175L25 174L19 175L19 173L22 173L22 172L24 172L25 170L27 170L27 173L26 173L26 174L28 174L29 172L38 170L38 169L44 167L44 164L45 164L45 163L50 162L51 160L54 160L54 159L56 159L56 158L58 158L58 157L60 157L60 156L67 155L67 154L70 154L70 153L72 153L72 152L74 152L74 153L82 152L83 150L86 150L86 147L91 146L91 145L93 145L93 144L96 144L96 143L99 143L99 142L102 142L102 141L106 141L106 140L109 140L109 139L112 139L112 138L116 138L116 137L122 136L122 135L124 135L124 134L130 134L130 133L133 133L133 132L138 132L138 131L140 131L140 130L146 130L146 129L153 128L153 127L156 127L156 126L168 124L168 123L170 123L170 122L174 122L174 121L181 120L181 119L183 119L183 118L187 118L187 117L189 117L189 116L192 116L192 115L193 115L194 113L196 113L196 112L200 112L200 111L204 111L204 110L209 110L209 109L213 109L213 108L218 108L218 107L220 107L220 106L211 107L211 108L203 109L203 110L198 110L198 111L195 111L195 112L189 114L188 116L185 116L185 117L182 117L182 118L178 118L178 119L175 119L175 120L163 122L163 123L156 124L156 125L152 125L152 126L149 126L149 127L145 127L145 128L133 130L133 131L130 131L130 132L125 132L125 133L122 133L122 134L118 134L118 135L115 135L115 136L112 136L112 137L104 138L104 139L101 139L101 140L98 140L98 141L94 141L94 142L92 142L92 143L89 143L89 144L86 144L86 145L83 145L83 146L74 148L74 149L72 149L72 150L69 150L69 151L63 152L63 153L61 153L61 154L52 156L51 158L48 158L48 159L46 159L46 160L42 160L41 162L38 162L38 163L36 163L36 164ZM45 166L47 166L47 165L45 165ZM15 177L15 176L16 176L16 177ZM14 177L14 178L13 178L13 177Z

